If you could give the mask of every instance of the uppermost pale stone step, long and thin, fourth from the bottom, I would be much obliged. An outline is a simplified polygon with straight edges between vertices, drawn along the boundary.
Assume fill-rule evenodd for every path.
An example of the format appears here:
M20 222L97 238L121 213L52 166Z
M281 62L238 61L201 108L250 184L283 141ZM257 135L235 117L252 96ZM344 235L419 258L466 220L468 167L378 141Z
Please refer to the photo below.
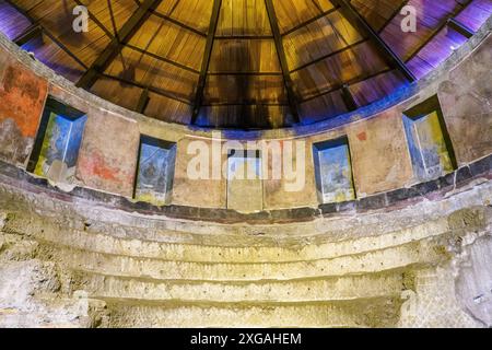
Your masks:
M448 232L447 221L440 220L391 234L345 240L304 247L221 247L191 244L169 244L140 240L118 238L69 230L44 231L36 236L47 242L97 253L156 258L183 262L296 262L361 254L374 249L399 246L415 240L442 235Z

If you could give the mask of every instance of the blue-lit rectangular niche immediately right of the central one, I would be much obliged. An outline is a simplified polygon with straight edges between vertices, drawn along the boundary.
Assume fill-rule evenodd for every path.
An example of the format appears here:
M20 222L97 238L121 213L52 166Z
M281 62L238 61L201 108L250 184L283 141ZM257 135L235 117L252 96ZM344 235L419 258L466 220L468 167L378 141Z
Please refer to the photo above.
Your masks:
M349 141L345 137L313 145L316 188L321 203L355 199Z

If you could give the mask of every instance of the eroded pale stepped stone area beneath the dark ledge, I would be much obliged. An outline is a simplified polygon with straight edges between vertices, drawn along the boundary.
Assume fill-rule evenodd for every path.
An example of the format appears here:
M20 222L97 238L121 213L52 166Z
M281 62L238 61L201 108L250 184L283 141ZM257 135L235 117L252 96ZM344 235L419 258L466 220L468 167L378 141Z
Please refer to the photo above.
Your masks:
M466 302L487 285L489 183L248 230L0 194L2 326L485 326Z

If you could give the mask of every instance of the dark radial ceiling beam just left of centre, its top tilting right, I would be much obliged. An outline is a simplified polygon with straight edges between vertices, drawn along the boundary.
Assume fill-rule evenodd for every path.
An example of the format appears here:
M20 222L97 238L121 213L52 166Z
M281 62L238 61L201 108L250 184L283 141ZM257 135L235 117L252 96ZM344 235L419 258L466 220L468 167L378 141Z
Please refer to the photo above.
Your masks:
M222 0L213 0L212 16L210 19L209 32L207 33L207 44L201 61L200 77L198 78L197 94L195 96L191 124L196 124L203 102L203 93L207 83L207 72L209 71L210 58L212 57L213 40L215 37L219 15L221 13Z

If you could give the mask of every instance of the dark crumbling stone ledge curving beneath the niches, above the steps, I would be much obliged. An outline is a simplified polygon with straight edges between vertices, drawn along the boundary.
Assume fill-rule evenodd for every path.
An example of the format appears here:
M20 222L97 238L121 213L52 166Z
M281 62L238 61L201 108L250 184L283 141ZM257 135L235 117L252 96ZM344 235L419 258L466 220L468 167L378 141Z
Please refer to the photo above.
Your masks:
M151 203L133 202L126 197L82 187L75 187L72 191L66 192L51 186L47 179L35 177L22 168L0 161L0 183L23 188L27 191L43 192L62 201L73 202L83 199L127 212L223 223L288 223L313 221L321 217L326 218L337 214L356 214L378 210L393 211L420 201L438 200L448 192L459 190L472 182L491 179L492 155L488 155L437 179L348 202L320 205L317 208L304 207L241 213L230 209L175 205L156 207Z

